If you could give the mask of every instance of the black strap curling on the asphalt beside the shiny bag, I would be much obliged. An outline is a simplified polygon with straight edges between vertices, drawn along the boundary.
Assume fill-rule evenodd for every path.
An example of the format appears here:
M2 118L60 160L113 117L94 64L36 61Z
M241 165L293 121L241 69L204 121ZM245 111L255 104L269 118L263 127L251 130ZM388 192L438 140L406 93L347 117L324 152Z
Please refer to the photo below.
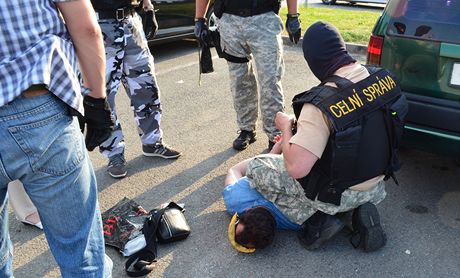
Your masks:
M169 205L168 205L169 206ZM125 264L126 274L130 277L140 277L153 270L153 263L157 257L157 229L160 219L167 207L153 210L152 216L146 219L142 231L144 233L146 246L129 256Z

